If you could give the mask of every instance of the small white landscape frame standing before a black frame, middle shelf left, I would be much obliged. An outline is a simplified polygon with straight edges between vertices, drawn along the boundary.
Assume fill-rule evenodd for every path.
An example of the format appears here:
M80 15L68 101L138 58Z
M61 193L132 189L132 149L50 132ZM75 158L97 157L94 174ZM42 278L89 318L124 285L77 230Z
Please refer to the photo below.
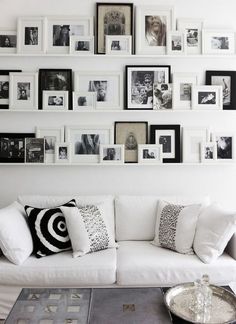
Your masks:
M43 91L43 110L68 110L68 91Z

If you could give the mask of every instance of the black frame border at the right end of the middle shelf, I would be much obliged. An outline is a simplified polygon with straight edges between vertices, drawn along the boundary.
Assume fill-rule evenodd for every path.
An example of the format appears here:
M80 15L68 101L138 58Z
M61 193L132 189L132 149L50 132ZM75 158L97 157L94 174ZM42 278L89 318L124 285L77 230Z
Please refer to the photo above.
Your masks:
M236 87L236 71L206 71L206 85L214 85L211 83L212 76L229 76L231 78L230 84L230 104L223 105L224 110L236 109L236 94L234 89Z

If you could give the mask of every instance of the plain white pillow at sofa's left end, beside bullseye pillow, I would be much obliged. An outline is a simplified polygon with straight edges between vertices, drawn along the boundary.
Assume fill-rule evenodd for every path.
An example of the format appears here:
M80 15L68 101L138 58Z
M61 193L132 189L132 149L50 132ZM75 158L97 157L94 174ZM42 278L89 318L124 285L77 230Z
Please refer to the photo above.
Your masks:
M17 265L33 252L33 241L24 215L23 206L16 201L0 210L0 248L5 257Z

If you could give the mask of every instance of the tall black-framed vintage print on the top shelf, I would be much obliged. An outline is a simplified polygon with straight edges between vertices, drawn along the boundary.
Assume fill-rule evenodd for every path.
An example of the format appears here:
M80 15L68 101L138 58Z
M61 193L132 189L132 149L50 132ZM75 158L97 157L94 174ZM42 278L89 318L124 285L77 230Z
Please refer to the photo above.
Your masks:
M120 26L121 30L114 30L113 33L106 33L106 29L109 28L109 26L104 26L103 23L100 22L100 20L103 18L103 21L105 20L105 16L102 15L101 8L102 7L117 7L119 8L119 11L121 13L121 7L126 7L129 8L129 32L128 33L123 33L122 29L124 30L124 26ZM106 12L107 14L107 12ZM118 13L119 14L119 13ZM123 12L123 15L120 14L120 20L122 20L121 24L124 24L124 20L127 19L128 17L125 17L125 14L127 13ZM112 31L113 28L117 28L117 16L116 15L116 25L110 26L110 29ZM111 19L112 20L112 19ZM96 53L97 54L105 54L105 35L131 35L132 36L132 53L134 54L134 5L133 3L118 3L118 2L97 2L96 3L96 35L95 35L95 40L96 40Z

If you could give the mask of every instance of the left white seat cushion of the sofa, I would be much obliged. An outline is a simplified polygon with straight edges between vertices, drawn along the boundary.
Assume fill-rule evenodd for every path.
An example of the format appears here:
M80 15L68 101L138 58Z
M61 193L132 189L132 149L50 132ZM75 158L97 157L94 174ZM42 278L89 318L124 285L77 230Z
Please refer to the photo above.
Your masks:
M76 287L116 282L116 249L72 258L71 251L45 258L30 256L16 266L0 258L0 285L21 287Z

